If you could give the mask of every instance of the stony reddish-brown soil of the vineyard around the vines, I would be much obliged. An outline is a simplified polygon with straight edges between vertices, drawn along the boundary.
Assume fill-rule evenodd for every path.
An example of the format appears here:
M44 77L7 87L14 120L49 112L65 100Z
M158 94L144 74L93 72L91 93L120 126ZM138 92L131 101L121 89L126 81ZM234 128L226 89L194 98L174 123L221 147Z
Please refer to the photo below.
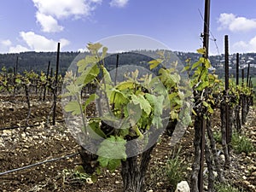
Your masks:
M0 128L25 125L27 114L24 98L16 98L15 102L7 96L0 96ZM30 125L39 124L35 127L0 131L0 191L91 191L110 192L122 191L122 180L120 170L111 173L102 170L96 183L90 180L81 181L73 177L73 170L81 164L79 154L76 154L79 145L75 142L65 122L61 121L62 109L57 106L57 123L55 126L45 126L49 116L52 102L32 102L32 114L29 120ZM215 113L212 119L212 127L219 127L219 113ZM251 137L254 144L256 141L255 109L251 108L248 115L248 122L244 129L245 134ZM252 134L255 134L252 136ZM182 147L182 159L191 167L193 160L193 137L194 129L188 128L182 140L177 146ZM172 155L170 137L162 136L152 153L152 160L148 166L146 177L147 191L172 191L165 175L166 160ZM47 162L42 165L32 166L17 172L6 172L22 166L32 165L44 160L63 157L68 154L76 154L73 157ZM256 176L253 171L248 172L248 166L256 166L256 153L231 154L232 167L225 171L225 175L235 186L240 186L245 191L256 191ZM190 170L183 172L184 177L189 181Z

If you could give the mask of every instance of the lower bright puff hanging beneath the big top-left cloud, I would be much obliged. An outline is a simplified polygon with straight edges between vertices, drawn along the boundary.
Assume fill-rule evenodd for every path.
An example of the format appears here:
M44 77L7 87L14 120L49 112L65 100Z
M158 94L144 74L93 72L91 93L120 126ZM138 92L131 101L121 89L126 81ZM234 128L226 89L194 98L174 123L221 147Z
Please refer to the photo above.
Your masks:
M42 26L43 32L61 32L64 28L63 26L59 26L58 21L51 15L44 15L38 12L36 17Z

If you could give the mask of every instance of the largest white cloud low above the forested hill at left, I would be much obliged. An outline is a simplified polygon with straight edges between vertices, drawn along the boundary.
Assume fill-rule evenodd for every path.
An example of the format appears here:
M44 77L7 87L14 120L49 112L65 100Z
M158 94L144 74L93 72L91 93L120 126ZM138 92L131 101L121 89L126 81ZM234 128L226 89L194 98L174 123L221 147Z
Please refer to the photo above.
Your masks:
M34 32L20 32L20 37L26 42L30 50L56 51L57 49L58 42L35 34ZM61 43L61 48L69 44L69 41L65 38L61 38L59 42Z

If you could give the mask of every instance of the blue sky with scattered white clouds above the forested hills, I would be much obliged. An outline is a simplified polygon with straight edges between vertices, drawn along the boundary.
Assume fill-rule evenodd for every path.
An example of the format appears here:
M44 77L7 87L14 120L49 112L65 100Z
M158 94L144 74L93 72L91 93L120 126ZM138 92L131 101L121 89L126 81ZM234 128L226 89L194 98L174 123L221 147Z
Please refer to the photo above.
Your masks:
M122 34L154 38L172 50L195 52L202 41L204 0L1 0L0 53L84 49ZM256 1L212 0L210 55L256 52ZM211 38L213 38L211 37Z

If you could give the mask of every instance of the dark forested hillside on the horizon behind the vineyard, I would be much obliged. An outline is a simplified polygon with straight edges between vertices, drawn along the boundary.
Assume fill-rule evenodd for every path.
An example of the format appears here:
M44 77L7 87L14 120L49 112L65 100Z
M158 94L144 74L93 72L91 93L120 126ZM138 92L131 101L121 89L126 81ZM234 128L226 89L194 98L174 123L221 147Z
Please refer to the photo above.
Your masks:
M119 56L119 65L125 65L127 63L133 63L135 65L147 65L150 61L150 57L154 58L156 52L151 50L140 50L140 54L136 53L122 53ZM191 58L191 62L195 62L199 58L199 54L186 53L174 51L177 57L185 64L188 58ZM87 53L84 54L84 56ZM60 73L63 75L67 71L74 58L79 55L79 52L61 52L60 55ZM140 57L139 59L137 57ZM176 58L175 58L176 59ZM224 76L224 55L210 56L212 63L212 70L222 78ZM18 63L18 73L23 73L25 70L33 70L36 73L41 71L46 72L48 63L50 61L50 67L55 70L56 52L24 52L20 54L0 54L0 68L6 67L9 73L12 73L16 63ZM136 63L136 61L144 61L143 63ZM236 75L236 54L230 55L230 75ZM112 69L116 64L116 55L110 55L106 65L109 69ZM256 53L247 53L240 55L240 66L247 70L247 65L251 65L250 74L256 76Z

